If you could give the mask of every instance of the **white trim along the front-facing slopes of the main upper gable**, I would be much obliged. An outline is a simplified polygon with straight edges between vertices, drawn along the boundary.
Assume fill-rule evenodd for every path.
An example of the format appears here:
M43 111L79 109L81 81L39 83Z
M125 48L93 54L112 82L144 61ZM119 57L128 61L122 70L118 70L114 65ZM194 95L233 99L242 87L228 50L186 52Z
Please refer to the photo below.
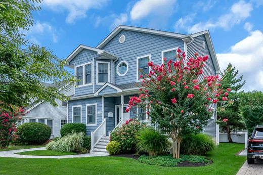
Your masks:
M142 33L157 34L157 35L161 35L161 36L168 36L168 37L174 37L174 38L181 38L182 36L185 36L184 34L179 34L179 33L172 33L172 32L153 30L153 29L148 29L148 28L140 28L140 27L131 27L131 26L119 25L101 43L99 43L99 45L96 48L97 49L103 48L121 30L137 31L137 32L142 32Z

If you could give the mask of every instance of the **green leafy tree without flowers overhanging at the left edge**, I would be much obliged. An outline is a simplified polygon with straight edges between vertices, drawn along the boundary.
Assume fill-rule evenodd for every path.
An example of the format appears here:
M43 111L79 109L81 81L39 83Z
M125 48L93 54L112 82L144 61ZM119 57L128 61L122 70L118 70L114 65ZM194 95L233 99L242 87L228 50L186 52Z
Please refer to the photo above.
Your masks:
M74 81L74 76L64 69L64 60L30 43L23 34L33 26L32 11L40 10L40 2L0 2L0 112L12 111L12 106L28 106L32 101L56 106L56 99L67 100L59 87ZM41 82L57 86L46 87Z

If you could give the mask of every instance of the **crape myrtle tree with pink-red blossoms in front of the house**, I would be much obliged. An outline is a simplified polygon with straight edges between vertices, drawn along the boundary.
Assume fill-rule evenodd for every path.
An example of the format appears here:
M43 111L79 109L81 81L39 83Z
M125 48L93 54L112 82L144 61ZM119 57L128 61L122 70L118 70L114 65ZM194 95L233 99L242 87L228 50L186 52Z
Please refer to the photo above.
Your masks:
M146 108L152 123L158 124L162 132L172 139L173 158L180 158L180 144L183 136L199 133L207 125L213 110L209 107L220 101L227 101L230 89L221 89L221 79L202 75L208 56L190 58L186 63L185 52L178 49L178 60L165 65L148 63L151 70L144 74L139 97L131 97L128 112L139 106ZM186 63L186 64L185 64Z

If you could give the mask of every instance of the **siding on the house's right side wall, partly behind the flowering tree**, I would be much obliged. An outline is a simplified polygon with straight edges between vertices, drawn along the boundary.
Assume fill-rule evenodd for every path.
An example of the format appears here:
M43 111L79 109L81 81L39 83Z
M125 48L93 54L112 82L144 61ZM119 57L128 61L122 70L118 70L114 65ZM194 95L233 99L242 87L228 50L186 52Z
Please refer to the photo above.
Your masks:
M205 49L203 48L203 41L205 41ZM208 60L205 62L205 67L203 69L203 74L199 77L199 80L203 80L203 76L215 75L215 68L212 63L211 54L208 50L208 46L204 35L194 37L193 42L191 42L187 47L187 57L195 57L194 54L198 53L199 56L204 57L208 55ZM216 105L212 104L210 107L216 109ZM215 118L208 121L208 125L205 127L205 133L211 137L216 136L216 112L214 114Z

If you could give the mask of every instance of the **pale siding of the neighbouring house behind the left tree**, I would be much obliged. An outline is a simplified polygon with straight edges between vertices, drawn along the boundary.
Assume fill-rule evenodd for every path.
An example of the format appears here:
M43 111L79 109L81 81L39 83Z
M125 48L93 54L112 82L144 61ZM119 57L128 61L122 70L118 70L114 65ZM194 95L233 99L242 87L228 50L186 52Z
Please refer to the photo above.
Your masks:
M71 86L70 90L62 90L60 93L65 94L66 96L71 96L74 94L74 87ZM67 107L62 107L62 102L56 100L56 103L59 105L53 107L48 103L42 103L30 110L26 115L26 122L29 122L30 118L36 119L52 119L53 120L53 136L60 137L60 120L67 120Z

